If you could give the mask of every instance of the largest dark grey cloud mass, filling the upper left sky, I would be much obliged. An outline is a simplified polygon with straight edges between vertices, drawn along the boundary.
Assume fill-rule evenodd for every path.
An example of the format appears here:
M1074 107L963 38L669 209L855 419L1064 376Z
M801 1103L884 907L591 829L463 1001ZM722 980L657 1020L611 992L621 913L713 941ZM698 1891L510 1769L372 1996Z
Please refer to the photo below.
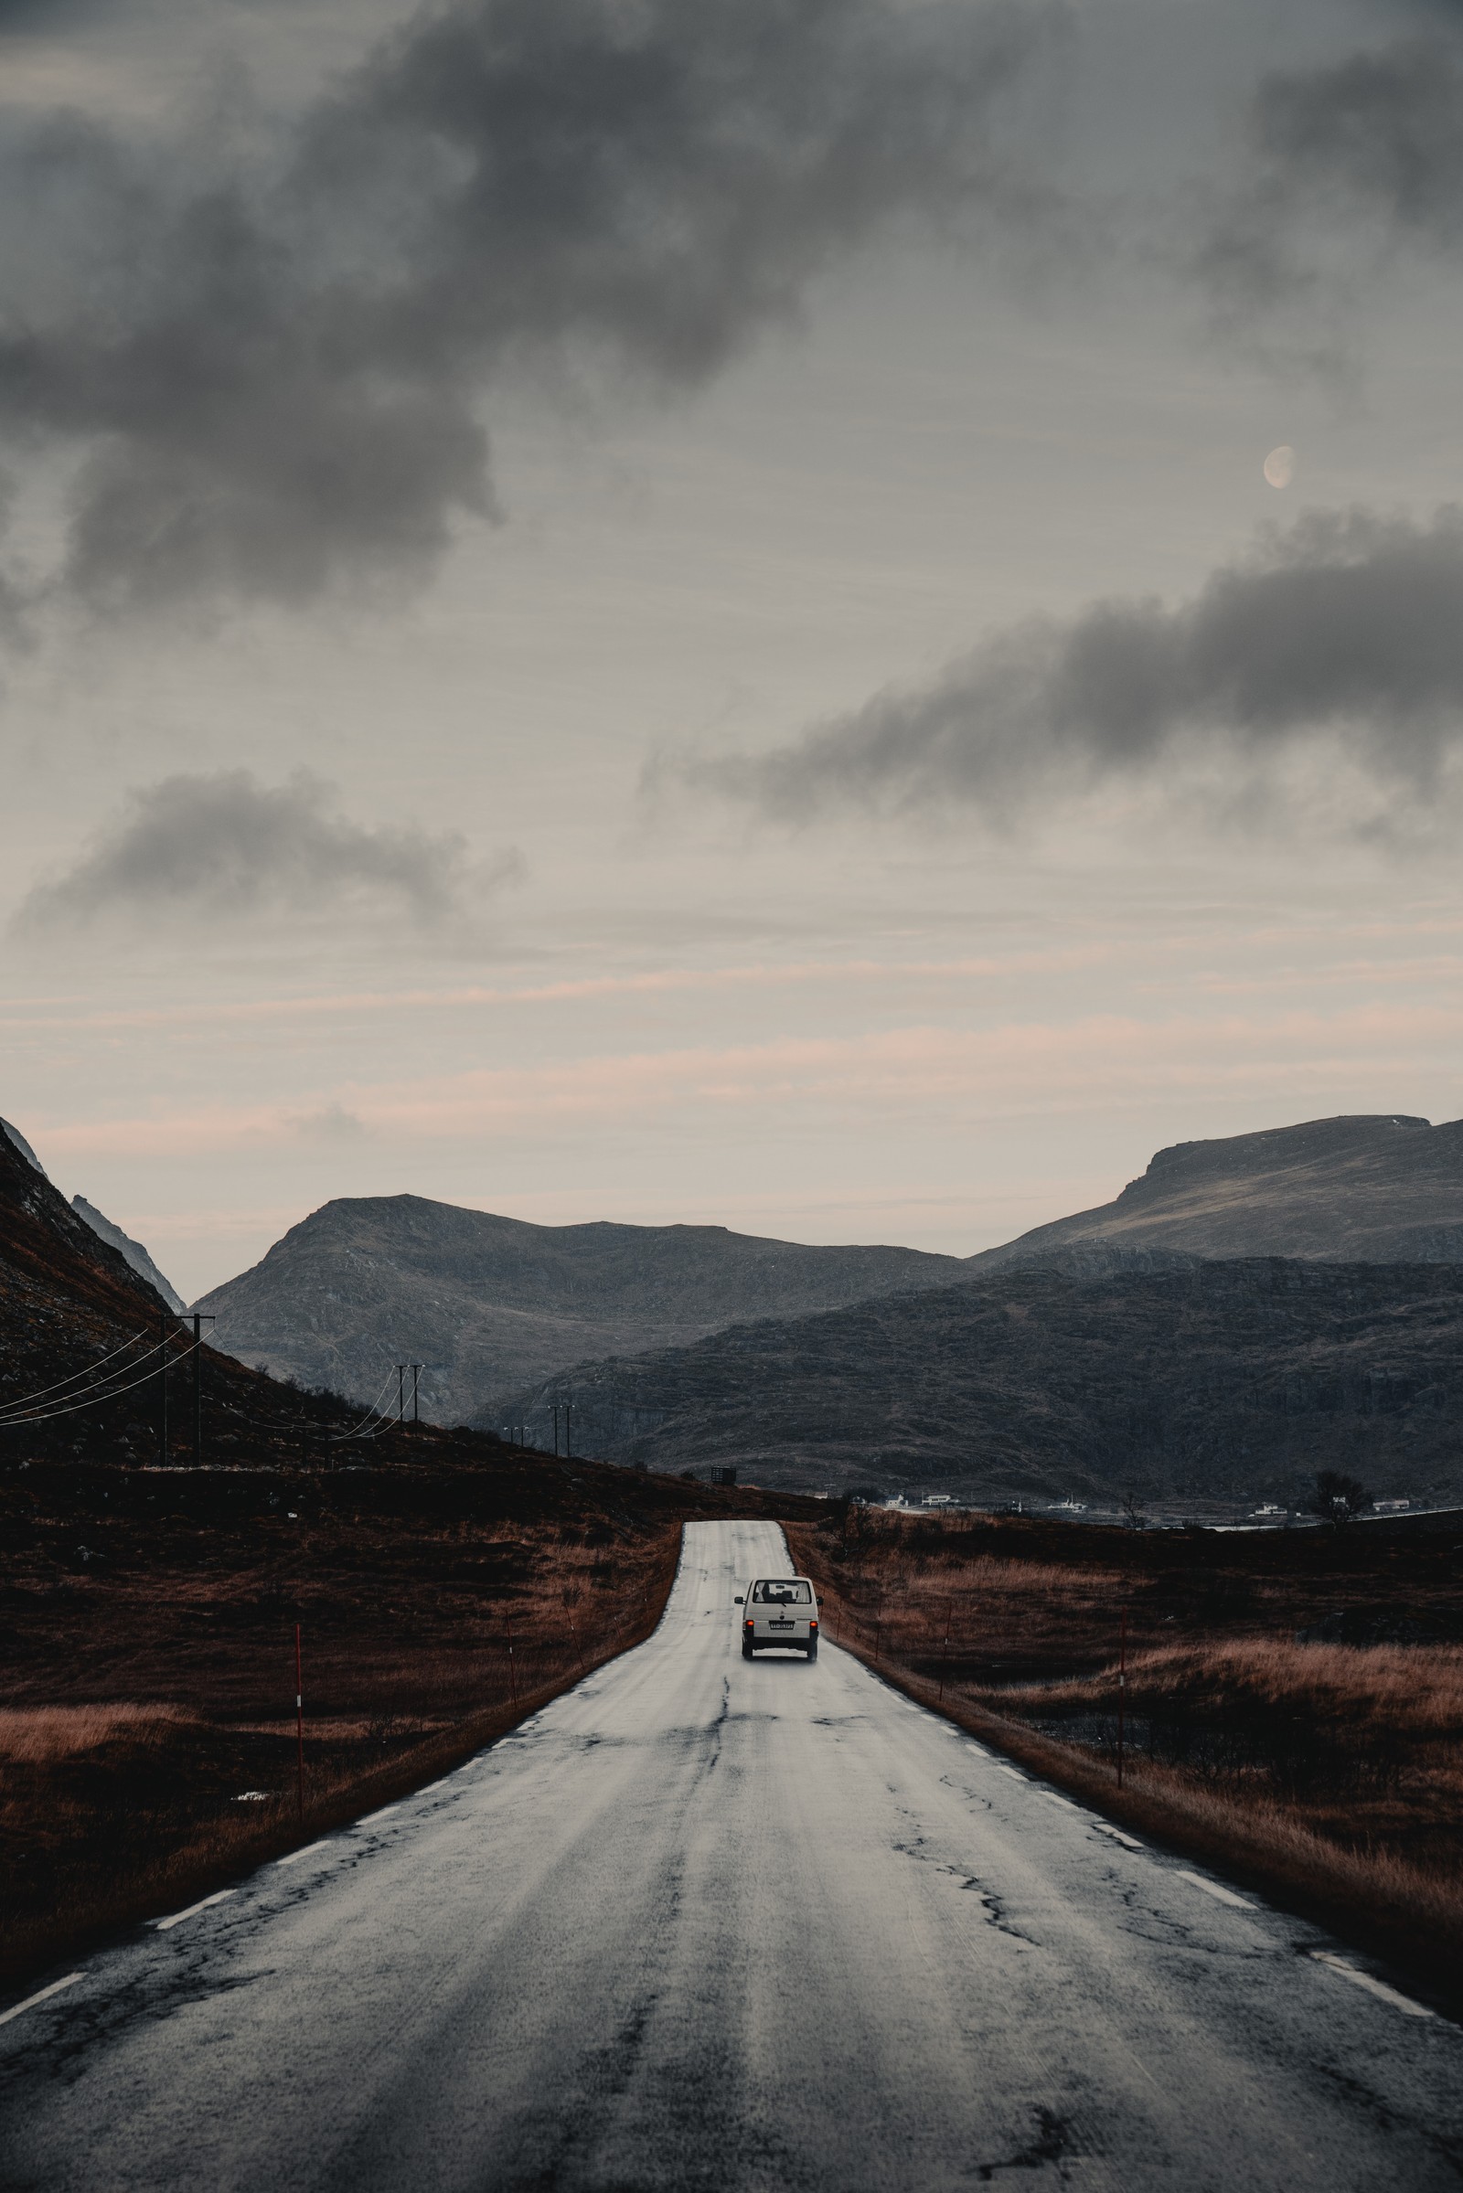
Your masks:
M430 568L494 513L500 375L693 386L891 217L1031 221L1000 112L1053 20L458 0L217 169L50 121L2 178L33 248L0 436L81 458L55 586L298 603Z

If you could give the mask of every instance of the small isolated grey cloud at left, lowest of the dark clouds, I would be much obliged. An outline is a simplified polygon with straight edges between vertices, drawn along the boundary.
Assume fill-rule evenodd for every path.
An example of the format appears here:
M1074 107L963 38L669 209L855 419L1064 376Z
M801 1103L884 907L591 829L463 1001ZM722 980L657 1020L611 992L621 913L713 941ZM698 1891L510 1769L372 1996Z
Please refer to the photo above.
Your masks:
M228 770L132 792L64 875L31 890L15 923L39 932L114 914L217 919L351 906L439 921L469 888L456 833L368 829L342 816L331 787L307 772L261 785L248 770Z

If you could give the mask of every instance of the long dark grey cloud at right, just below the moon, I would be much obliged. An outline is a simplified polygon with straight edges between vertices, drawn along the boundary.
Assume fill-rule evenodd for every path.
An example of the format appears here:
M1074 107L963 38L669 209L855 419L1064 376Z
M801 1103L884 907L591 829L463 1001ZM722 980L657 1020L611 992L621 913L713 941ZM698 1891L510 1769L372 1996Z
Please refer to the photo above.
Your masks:
M1180 607L1020 625L923 691L687 774L790 820L952 800L1005 816L1173 763L1263 772L1323 732L1384 805L1426 798L1463 750L1463 511L1303 518Z

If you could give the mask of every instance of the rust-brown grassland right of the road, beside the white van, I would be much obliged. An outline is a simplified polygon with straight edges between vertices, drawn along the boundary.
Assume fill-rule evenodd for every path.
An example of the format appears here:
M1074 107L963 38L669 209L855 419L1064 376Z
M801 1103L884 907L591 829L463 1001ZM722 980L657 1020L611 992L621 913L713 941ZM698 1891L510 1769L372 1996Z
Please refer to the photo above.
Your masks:
M836 1504L787 1537L825 1632L912 1695L1456 1993L1452 1520L1215 1535Z

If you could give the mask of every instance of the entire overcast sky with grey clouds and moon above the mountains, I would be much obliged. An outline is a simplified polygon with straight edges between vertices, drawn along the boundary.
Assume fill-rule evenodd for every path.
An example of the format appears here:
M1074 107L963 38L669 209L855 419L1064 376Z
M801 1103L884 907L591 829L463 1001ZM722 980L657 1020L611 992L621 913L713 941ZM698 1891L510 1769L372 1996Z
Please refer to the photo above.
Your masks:
M1463 11L0 0L0 1112L184 1294L1463 1110Z

